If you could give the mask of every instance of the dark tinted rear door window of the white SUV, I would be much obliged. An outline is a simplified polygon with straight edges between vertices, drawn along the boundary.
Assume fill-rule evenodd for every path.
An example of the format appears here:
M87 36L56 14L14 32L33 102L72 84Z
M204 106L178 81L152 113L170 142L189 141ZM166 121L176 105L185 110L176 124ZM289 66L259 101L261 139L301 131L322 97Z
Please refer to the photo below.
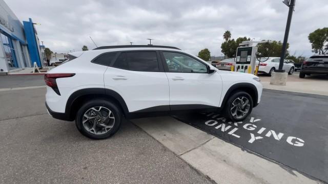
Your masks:
M154 51L121 53L113 67L140 72L159 72L157 54Z

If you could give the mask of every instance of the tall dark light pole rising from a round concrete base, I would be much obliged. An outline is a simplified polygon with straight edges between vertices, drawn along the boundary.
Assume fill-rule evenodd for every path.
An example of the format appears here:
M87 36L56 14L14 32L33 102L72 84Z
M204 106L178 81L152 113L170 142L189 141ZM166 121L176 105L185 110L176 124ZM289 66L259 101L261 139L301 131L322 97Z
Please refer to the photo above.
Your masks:
M287 24L286 24L286 29L285 29L285 36L283 38L283 43L282 43L282 51L281 51L281 55L280 55L279 70L275 71L277 73L285 72L284 70L282 70L282 66L283 66L283 61L284 61L285 54L286 54L287 41L288 41L289 30L291 28L291 21L292 21L294 6L295 6L295 0L284 0L282 3L284 3L285 5L287 5L289 7L289 12L288 12Z

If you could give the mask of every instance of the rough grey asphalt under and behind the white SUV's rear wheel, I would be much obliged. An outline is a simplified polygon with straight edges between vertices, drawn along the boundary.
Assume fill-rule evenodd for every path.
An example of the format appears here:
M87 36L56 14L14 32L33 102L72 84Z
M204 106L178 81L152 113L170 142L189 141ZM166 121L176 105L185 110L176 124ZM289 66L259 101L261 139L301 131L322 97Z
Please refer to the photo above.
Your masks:
M44 90L0 91L0 183L211 183L129 121L86 138L46 113Z

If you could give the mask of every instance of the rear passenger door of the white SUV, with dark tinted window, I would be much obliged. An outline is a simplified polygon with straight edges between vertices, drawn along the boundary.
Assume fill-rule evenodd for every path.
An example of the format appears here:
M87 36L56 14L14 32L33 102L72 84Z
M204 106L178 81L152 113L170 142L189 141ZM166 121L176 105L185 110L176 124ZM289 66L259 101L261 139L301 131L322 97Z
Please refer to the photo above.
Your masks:
M129 112L170 110L169 82L158 51L120 52L104 75L105 88L117 92Z

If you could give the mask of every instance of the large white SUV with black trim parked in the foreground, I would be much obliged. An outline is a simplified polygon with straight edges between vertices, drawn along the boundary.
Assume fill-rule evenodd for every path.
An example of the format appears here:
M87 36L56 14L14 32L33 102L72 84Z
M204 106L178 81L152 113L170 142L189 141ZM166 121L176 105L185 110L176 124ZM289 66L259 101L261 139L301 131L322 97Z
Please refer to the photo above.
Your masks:
M69 57L45 75L46 106L92 139L113 135L122 116L221 111L241 121L262 94L258 77L220 71L174 47L108 46Z

